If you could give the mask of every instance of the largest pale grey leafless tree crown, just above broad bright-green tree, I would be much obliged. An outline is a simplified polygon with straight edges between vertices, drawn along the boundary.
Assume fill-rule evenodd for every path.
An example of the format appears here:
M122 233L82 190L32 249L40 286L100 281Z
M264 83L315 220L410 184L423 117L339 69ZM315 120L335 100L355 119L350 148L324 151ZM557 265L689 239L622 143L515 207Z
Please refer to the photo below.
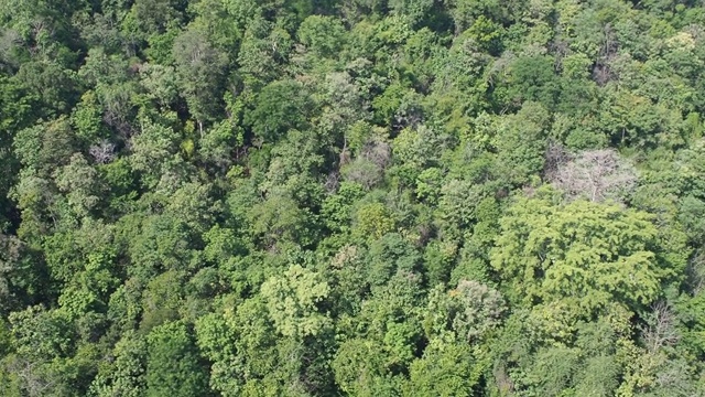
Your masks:
M586 197L593 202L620 201L636 186L637 172L611 149L582 152L547 175L568 198Z

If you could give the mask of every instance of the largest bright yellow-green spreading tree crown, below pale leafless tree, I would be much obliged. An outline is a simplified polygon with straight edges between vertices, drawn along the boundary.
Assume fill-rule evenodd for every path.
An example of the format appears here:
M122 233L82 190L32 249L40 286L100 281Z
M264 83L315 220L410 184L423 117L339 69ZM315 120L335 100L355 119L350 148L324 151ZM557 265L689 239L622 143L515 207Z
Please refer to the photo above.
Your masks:
M562 302L582 319L609 302L638 311L680 271L659 259L650 216L614 204L520 197L500 225L491 266L519 304Z

